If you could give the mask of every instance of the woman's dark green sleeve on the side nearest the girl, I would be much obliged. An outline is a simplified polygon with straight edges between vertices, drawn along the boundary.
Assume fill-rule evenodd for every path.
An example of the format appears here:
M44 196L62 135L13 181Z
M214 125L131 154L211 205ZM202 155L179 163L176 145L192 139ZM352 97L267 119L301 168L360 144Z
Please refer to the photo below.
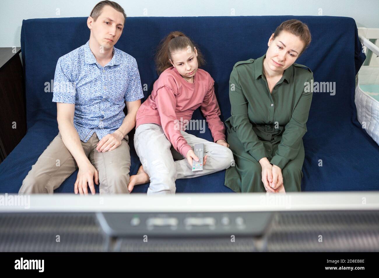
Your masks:
M236 67L233 67L232 73L230 74L229 99L232 106L231 115L233 127L236 130L237 137L241 141L245 151L259 162L261 158L267 157L265 147L262 141L258 139L257 134L255 134L249 120L247 113L249 103L240 87Z

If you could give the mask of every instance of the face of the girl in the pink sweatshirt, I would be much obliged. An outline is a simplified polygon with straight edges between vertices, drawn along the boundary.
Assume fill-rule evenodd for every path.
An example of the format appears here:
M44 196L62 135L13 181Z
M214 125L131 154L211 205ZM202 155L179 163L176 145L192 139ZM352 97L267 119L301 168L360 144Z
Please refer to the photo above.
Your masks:
M196 47L194 47L194 51L192 51L190 46L175 51L174 53L171 53L171 57L172 60L170 59L170 62L172 66L176 68L180 75L187 80L192 80L199 66L197 63Z

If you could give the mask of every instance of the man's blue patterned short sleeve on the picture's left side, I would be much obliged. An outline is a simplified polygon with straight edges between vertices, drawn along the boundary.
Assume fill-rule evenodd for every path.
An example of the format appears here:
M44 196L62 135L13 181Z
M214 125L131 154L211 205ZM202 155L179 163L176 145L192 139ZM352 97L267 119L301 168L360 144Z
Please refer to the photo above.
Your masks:
M75 82L70 79L70 71L64 68L62 57L60 57L55 68L53 102L75 103L75 95Z

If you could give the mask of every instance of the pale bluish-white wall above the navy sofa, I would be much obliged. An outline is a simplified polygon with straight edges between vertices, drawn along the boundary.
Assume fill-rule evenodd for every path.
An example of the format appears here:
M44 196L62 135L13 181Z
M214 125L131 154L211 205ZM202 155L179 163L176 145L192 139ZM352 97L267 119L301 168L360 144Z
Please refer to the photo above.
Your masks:
M1 0L0 47L20 47L23 19L89 16L100 0ZM379 28L378 0L116 0L135 16L347 16ZM59 9L59 15L57 15Z

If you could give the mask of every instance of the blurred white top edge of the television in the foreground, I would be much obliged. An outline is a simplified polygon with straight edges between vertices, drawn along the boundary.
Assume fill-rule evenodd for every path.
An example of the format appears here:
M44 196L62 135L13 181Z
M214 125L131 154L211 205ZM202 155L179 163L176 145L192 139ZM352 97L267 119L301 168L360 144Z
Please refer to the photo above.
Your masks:
M0 213L379 210L378 191L287 194L180 193L172 196L147 196L146 194L80 196L60 193L18 196L18 198L29 198L28 206L15 205L16 202L11 202L11 199L17 196L17 194L1 194Z

